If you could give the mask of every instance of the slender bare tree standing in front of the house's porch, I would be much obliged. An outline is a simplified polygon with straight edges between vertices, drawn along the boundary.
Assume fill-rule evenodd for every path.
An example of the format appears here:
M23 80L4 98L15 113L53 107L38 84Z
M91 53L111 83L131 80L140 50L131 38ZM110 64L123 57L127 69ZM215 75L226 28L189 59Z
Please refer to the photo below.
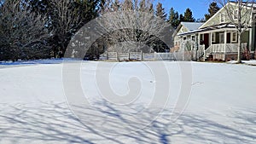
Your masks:
M241 34L249 27L253 22L253 8L256 7L254 0L215 0L221 4L229 18L229 22L236 27L238 35L238 55L237 63L241 63Z

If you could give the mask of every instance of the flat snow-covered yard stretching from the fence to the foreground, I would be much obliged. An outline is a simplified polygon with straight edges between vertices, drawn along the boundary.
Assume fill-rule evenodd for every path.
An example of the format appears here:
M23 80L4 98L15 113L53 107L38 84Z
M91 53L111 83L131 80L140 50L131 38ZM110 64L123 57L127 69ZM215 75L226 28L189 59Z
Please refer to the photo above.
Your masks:
M256 66L163 63L170 80L169 98L165 107L147 107L153 97L161 99L153 95L161 79L154 79L147 63L115 63L109 77L116 94L129 91L131 76L142 84L136 101L117 106L102 99L96 84L96 74L104 75L108 63L84 61L80 85L90 106L78 107L81 117L64 92L61 60L1 63L0 143L256 143ZM184 111L174 111L183 93L183 64L192 67L191 89Z

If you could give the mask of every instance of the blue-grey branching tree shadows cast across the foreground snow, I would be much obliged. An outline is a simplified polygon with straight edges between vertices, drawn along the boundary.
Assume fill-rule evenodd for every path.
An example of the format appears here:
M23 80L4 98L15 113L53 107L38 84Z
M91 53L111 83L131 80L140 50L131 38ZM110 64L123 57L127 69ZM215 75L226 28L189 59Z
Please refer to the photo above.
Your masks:
M166 110L152 120L154 109L107 101L77 107L77 118L65 102L0 104L0 143L255 143L256 112L232 111L227 116L208 112L183 114L170 120ZM216 116L209 118L207 116ZM84 116L84 117L83 117ZM219 123L220 119L228 122ZM141 125L147 125L141 129Z

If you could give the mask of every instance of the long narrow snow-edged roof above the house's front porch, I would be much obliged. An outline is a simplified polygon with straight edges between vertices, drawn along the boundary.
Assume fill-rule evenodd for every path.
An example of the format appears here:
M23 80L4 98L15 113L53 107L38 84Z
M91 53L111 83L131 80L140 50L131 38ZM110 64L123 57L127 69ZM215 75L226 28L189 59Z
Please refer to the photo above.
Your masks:
M194 31L190 31L190 32L183 32L183 33L180 33L178 34L177 36L185 36L185 35L189 35L189 34L193 34L193 33L199 33L199 32L208 32L208 31L214 31L214 30L224 30L226 28L231 28L231 29L235 29L236 26L233 25L233 24L220 24L220 25L217 25L217 26L209 26L209 27L206 27L206 28L201 28L201 29L197 29L197 30L194 30Z

